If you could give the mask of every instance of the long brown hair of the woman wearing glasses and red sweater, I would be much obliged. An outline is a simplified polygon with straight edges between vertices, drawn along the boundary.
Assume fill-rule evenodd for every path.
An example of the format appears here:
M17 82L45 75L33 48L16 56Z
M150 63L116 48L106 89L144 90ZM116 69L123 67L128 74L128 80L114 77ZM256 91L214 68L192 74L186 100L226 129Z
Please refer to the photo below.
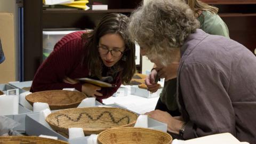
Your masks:
M121 58L110 68L109 72L114 77L120 75L123 84L131 81L136 68L135 44L126 35L129 20L124 14L110 13L101 19L93 31L82 35L82 38L87 41L84 48L88 50L87 54L84 55L83 63L85 65L87 64L92 76L101 78L103 67L105 67L99 56L99 39L106 34L118 34L123 38L125 43L125 51L122 57L126 57L126 60L122 60Z

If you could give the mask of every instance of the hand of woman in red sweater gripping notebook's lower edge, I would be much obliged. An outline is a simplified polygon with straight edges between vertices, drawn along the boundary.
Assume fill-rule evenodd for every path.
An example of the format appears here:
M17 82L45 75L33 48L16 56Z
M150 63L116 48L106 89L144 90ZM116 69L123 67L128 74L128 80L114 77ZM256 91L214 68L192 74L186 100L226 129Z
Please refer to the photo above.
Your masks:
M102 93L98 92L101 90L101 87L95 86L93 84L85 83L82 85L82 92L88 97L102 96Z

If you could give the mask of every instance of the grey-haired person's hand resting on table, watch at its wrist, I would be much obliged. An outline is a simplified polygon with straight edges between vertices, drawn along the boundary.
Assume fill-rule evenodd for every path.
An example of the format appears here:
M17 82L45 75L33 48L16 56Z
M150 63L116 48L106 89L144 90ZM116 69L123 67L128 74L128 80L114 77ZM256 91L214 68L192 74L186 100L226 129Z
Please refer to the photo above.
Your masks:
M172 117L169 113L162 110L153 110L145 113L150 118L167 124L167 131L179 134L180 127L185 123L181 121L182 117Z

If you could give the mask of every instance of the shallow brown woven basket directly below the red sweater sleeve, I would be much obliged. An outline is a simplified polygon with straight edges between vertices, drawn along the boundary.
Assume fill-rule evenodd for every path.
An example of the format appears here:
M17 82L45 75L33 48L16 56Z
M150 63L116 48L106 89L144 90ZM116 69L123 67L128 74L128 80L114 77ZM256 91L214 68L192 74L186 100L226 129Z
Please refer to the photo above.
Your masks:
M65 90L34 92L26 96L26 100L32 106L34 102L45 102L51 110L76 108L85 98L87 97L84 93Z

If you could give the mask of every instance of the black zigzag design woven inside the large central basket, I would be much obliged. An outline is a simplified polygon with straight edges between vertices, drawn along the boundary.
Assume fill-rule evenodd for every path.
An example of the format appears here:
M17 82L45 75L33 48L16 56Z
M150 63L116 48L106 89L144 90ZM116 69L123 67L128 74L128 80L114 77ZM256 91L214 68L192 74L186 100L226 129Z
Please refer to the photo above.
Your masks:
M115 123L115 124L121 122L121 121L122 121L123 119L125 119L125 118L127 118L127 124L130 123L130 117L128 117L128 116L124 116L124 117L120 118L118 121L115 121L115 118L113 117L112 113L109 112L109 111L103 111L96 119L93 119L93 117L92 117L90 114L86 113L86 112L80 113L79 116L78 116L76 119L72 119L71 117L69 117L69 116L66 115L66 114L60 114L60 115L58 115L58 116L55 116L55 118L57 118L57 123L58 123L58 126L59 126L59 125L60 125L60 124L59 124L59 117L60 117L60 116L65 116L65 117L67 117L70 121L78 122L78 121L80 121L80 118L81 118L82 115L84 115L84 114L85 114L88 118L90 118L91 121L98 121L104 114L108 114L109 117L111 118L111 121L112 121L113 123Z

